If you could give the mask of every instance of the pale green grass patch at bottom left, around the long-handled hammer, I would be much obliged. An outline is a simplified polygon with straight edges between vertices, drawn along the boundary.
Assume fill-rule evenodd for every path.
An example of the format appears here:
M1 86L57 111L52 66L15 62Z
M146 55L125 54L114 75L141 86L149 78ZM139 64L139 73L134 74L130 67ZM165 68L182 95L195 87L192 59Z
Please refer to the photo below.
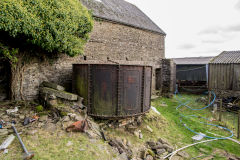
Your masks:
M35 160L111 160L114 157L111 147L102 140L90 140L83 133L56 133L38 130L35 135L22 136ZM0 138L0 141L1 138ZM68 146L68 142L72 145ZM22 160L23 150L17 139L9 147L9 153L0 154L1 160Z

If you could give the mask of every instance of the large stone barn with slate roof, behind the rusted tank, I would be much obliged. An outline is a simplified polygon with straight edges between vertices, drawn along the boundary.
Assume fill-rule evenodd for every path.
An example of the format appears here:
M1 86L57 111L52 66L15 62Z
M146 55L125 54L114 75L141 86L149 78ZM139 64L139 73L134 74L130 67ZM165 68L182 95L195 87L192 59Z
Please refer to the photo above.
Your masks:
M84 55L55 59L35 58L24 64L12 96L16 100L38 97L39 85L50 81L71 91L72 64L140 64L153 67L152 89L156 88L156 70L164 70L165 32L135 5L124 0L81 0L94 17L94 27ZM159 83L167 79L162 72ZM165 76L165 78L164 78ZM161 80L163 79L163 80ZM158 85L159 86L159 85ZM159 90L161 90L160 85ZM168 87L169 88L169 87Z

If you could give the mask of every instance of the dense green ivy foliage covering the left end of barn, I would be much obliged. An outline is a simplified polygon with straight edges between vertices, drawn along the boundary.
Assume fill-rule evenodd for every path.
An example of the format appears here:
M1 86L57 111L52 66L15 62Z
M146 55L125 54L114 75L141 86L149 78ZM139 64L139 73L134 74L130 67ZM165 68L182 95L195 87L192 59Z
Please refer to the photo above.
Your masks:
M82 54L92 27L92 15L79 0L0 0L0 31L47 54ZM17 52L0 42L0 56L15 62Z

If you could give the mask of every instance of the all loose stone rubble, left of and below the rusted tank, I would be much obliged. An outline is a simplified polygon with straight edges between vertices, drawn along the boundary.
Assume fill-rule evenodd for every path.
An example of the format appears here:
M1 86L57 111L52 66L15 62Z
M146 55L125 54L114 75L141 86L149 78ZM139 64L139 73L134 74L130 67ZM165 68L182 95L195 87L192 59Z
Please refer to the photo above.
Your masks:
M59 86L58 86L59 87ZM60 87L61 88L61 87ZM58 90L55 90L58 91ZM55 92L54 92L55 93ZM109 120L105 123L96 123L94 120L87 116L87 109L82 104L83 98L75 98L75 101L63 99L58 95L41 95L41 102L45 109L48 111L37 112L34 107L36 104L32 104L31 107L24 108L24 105L11 105L9 108L0 108L0 120L4 122L15 121L16 128L22 134L35 135L39 128L46 130L49 133L56 132L56 129L66 129L76 122L85 122L87 128L82 132L86 134L90 140L104 139L110 146L116 149L119 154L115 159L126 159L126 160L155 160L174 151L174 147L164 138L159 138L157 141L147 141L144 146L138 148L138 153L135 153L135 146L131 144L131 141L126 138L111 137L105 134L106 128L122 129L129 132L133 136L144 140L144 134L139 129L142 124L142 116L125 118L120 120ZM39 104L37 104L39 105ZM15 112L6 112L16 110ZM50 112L49 112L50 111ZM33 121L27 125L23 125L25 118L32 118L38 115L39 119ZM157 121L156 117L149 117L150 121ZM1 121L0 121L1 122ZM145 126L147 132L153 133L153 129L150 126ZM11 124L6 123L3 125L3 129L0 129L0 137L8 136L13 133ZM67 147L71 146L72 143L69 141ZM233 156L232 156L233 157ZM190 156L185 151L179 152L173 157L175 160L189 159Z

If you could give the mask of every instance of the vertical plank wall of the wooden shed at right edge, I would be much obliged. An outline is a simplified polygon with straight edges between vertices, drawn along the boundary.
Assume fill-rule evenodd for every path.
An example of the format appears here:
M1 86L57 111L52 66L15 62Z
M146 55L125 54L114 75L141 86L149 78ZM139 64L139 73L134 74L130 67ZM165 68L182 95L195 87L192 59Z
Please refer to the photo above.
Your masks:
M219 97L239 97L240 64L209 64L209 90Z

